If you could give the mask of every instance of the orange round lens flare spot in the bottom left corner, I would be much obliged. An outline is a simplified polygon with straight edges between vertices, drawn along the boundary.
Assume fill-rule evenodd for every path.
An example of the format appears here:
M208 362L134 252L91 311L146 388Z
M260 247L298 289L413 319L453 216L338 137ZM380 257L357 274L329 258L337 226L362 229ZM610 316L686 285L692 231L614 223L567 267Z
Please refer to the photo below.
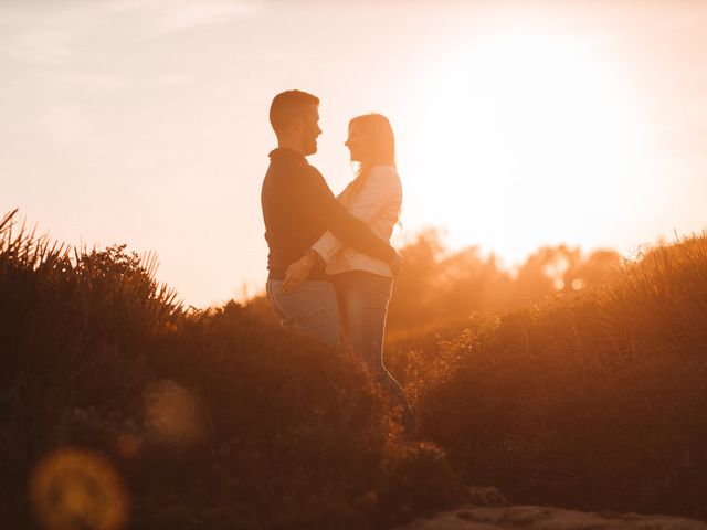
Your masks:
M51 530L118 530L129 515L128 494L113 464L84 449L44 457L30 480L34 513Z

